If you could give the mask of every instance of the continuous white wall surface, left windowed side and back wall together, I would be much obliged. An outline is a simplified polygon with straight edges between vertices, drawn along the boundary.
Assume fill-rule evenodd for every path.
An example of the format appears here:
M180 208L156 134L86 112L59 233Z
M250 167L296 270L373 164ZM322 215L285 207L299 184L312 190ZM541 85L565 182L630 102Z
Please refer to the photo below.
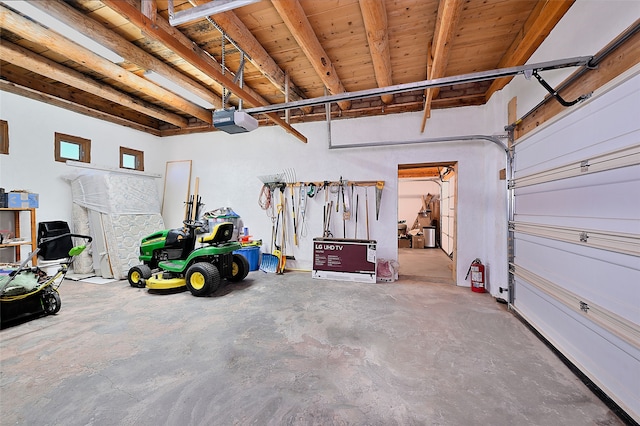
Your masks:
M504 167L504 152L486 141L461 141L403 146L329 149L326 123L297 125L309 142L304 144L280 127L264 127L249 134L222 132L157 138L131 129L101 122L61 108L1 93L2 119L9 122L10 155L0 156L0 182L7 190L27 189L40 194L38 221L65 220L72 223L71 194L62 176L71 167L53 160L53 135L62 132L91 139L92 163L118 167L118 147L145 152L145 169L163 174L167 160L193 160L192 176L200 178L204 211L233 207L254 238L270 250L271 220L258 206L262 182L258 176L294 169L297 181L344 179L384 181L379 219L376 220L375 190L369 188L370 237L378 241L378 257L397 259L398 164L407 162L452 162L459 164L458 271L459 285L469 263L480 257L495 269L495 285L506 280L506 228L504 182L498 170ZM362 142L404 142L421 137L492 134L500 130L486 107L434 111L424 135L419 134L421 113L341 120L332 123L334 146ZM37 125L34 125L37 123ZM374 137L376 137L374 139ZM159 186L162 186L159 180ZM359 188L364 214L364 188ZM311 266L314 237L322 236L324 194L309 200L307 237L299 246L289 244L288 253L298 266ZM334 235L342 236L342 223L334 216ZM348 223L347 235L354 232ZM366 235L364 217L359 218L359 236ZM167 224L177 227L179 224ZM291 235L291 232L290 232ZM289 264L289 263L288 263Z

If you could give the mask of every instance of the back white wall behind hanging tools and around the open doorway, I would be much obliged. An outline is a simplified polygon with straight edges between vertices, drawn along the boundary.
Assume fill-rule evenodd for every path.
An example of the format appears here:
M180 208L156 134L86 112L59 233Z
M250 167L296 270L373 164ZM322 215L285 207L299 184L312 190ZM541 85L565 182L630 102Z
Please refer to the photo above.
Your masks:
M204 211L233 207L254 238L262 238L270 250L271 221L258 206L262 182L258 176L280 173L293 168L297 181L337 181L342 176L351 181L384 181L379 220L375 218L375 191L369 189L370 236L378 241L378 257L397 259L398 164L407 162L452 162L459 164L458 280L464 282L473 259L480 257L495 265L495 287L506 283L505 240L496 244L494 228L506 229L505 209L493 208L495 198L504 197L504 181L498 172L504 168L505 154L495 144L485 141L461 141L403 146L344 148L351 143L390 141L403 142L420 137L492 134L500 127L492 125L485 107L434 111L424 135L419 134L421 113L332 122L332 144L329 149L326 123L295 125L308 137L304 144L279 127L264 127L242 135L221 132L170 138L168 155L193 160L193 176L200 178L200 194L206 203ZM504 126L504 124L500 124ZM375 138L375 139L374 139ZM342 148L337 149L336 146ZM364 205L364 189L360 189L360 205ZM500 195L497 195L500 194ZM288 253L298 266L309 268L314 237L322 236L324 194L309 201L308 236L299 246L289 244ZM290 205L290 204L289 204ZM353 203L352 203L353 205ZM364 210L361 210L363 212ZM342 237L342 222L332 219L334 236ZM415 218L414 218L415 219ZM359 219L358 235L366 235L364 218ZM354 233L354 221L347 224L347 235ZM487 228L487 224L491 224ZM289 232L291 235L291 232ZM490 240L487 242L487 239ZM498 247L496 249L496 247ZM289 262L287 263L289 265Z

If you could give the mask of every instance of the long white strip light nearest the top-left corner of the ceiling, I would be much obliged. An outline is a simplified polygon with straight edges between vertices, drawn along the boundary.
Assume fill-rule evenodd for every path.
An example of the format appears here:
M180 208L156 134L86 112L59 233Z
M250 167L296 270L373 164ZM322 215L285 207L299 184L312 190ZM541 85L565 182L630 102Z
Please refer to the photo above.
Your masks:
M5 6L13 10L16 10L22 13L28 18L32 19L33 21L36 21L39 24L46 26L47 28L57 32L58 34L68 38L69 40L74 41L80 46L89 49L93 53L98 54L115 64L124 62L124 58L122 56L118 55L112 50L107 49L100 43L90 39L89 37L85 36L81 32L71 28L64 22L58 21L53 16L29 4L29 2L27 1L11 0L11 1L2 1L1 3L3 3Z

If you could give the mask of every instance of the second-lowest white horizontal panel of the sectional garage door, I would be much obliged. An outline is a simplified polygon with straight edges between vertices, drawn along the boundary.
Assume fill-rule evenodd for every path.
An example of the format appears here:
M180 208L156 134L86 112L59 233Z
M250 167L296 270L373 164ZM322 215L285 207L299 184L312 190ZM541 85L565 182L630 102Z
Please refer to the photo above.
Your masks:
M614 264L603 259L601 250L529 235L519 237L517 244L517 265L579 294L587 303L640 323L637 257L625 256L625 265ZM610 253L608 257L613 258Z

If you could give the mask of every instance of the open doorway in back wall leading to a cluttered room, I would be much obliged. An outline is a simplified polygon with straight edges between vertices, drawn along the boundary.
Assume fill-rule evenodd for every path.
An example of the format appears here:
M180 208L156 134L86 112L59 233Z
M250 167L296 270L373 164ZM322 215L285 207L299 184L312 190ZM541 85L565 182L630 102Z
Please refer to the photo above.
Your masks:
M457 167L398 165L400 278L456 283Z

